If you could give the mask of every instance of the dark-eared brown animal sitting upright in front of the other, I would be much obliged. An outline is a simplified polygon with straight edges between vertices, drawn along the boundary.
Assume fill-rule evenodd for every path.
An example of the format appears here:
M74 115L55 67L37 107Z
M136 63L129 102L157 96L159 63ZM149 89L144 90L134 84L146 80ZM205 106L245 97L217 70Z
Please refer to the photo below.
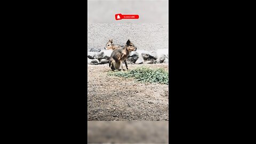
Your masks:
M109 58L109 67L112 70L125 70L123 69L123 61L126 69L128 69L126 59L131 51L136 51L137 47L128 39L126 45L122 49L115 49Z

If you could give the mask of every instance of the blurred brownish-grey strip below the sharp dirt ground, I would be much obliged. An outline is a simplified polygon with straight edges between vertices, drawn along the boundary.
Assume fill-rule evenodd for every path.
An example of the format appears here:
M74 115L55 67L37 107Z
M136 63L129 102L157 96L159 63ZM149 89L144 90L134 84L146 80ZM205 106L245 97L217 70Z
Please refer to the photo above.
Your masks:
M168 143L168 122L93 122L88 143Z

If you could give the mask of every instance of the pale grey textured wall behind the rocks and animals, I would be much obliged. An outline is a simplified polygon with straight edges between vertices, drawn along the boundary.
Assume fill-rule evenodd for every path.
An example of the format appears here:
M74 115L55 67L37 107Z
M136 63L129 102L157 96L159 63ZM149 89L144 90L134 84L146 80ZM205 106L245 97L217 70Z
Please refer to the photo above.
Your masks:
M87 51L103 50L108 39L124 45L127 39L141 50L168 49L168 24L160 23L92 23L87 26Z

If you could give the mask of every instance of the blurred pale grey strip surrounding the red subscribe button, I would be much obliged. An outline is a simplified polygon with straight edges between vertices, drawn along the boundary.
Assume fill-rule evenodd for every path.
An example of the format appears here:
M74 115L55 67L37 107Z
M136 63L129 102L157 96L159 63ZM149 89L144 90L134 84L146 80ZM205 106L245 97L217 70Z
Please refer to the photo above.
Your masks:
M168 1L87 1L88 23L168 23ZM139 19L115 20L115 14L139 14Z

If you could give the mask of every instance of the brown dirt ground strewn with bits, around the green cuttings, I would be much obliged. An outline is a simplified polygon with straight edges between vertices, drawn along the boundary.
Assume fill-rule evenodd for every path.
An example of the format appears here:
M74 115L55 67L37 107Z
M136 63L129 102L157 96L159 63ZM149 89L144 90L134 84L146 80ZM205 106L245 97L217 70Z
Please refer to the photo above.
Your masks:
M128 68L141 66L168 70L166 63ZM169 121L168 85L143 84L108 71L108 64L87 65L87 121Z

